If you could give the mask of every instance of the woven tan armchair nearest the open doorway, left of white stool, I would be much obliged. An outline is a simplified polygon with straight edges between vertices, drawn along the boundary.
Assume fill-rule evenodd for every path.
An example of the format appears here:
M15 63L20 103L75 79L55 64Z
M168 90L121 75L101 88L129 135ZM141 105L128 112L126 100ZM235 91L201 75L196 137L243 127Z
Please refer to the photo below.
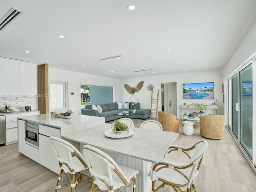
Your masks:
M158 118L159 118L159 122L163 127L163 131L170 131L170 132L179 131L179 120L175 115L167 112L159 111Z

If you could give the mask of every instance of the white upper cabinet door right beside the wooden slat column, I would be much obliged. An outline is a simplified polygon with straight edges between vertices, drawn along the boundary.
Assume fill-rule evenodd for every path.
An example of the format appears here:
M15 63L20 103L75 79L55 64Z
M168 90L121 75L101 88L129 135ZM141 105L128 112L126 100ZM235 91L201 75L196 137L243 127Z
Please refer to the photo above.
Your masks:
M36 64L20 61L20 94L37 94Z

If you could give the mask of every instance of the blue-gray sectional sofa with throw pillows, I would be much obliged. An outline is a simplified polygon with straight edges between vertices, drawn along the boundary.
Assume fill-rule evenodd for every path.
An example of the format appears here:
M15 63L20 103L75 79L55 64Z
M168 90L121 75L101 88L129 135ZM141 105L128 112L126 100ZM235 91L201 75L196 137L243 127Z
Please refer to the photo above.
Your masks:
M97 105L96 105L97 106ZM92 105L85 105L85 108L81 109L81 114L90 115L90 116L98 116L105 117L105 122L114 120L114 114L118 114L123 111L131 111L132 110L132 102L129 104L129 109L118 109L118 104L108 103L108 104L100 104L102 108L102 113L99 113L98 110L93 110ZM135 105L136 112L138 113L138 119L146 119L150 117L150 109L140 109L140 103L136 103ZM136 115L129 116L130 118L136 118ZM115 119L122 118L122 116L115 116Z

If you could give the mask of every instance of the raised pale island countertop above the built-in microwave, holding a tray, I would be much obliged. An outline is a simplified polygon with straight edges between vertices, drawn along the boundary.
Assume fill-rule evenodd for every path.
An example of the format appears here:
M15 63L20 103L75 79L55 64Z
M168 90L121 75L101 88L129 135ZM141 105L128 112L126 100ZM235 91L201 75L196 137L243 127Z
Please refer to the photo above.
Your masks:
M71 118L65 119L65 118L52 117L50 114L41 114L41 115L35 115L35 116L19 117L18 119L60 129L63 127L72 127L72 126L77 127L77 125L79 125L79 128L80 128L82 126L81 123L83 122L95 122L100 120L105 122L104 118L100 118L100 119L99 118L100 117L72 114ZM72 130L72 131L76 131L76 130Z

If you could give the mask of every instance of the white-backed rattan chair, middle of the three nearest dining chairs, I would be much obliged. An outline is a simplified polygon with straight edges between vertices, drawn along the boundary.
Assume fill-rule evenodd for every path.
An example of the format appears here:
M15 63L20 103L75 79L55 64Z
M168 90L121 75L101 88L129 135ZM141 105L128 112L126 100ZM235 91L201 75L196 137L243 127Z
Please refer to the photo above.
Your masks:
M103 151L88 145L84 145L83 155L92 175L91 192L97 189L102 191L120 192L124 186L133 186L136 192L137 170L117 164L110 156Z

